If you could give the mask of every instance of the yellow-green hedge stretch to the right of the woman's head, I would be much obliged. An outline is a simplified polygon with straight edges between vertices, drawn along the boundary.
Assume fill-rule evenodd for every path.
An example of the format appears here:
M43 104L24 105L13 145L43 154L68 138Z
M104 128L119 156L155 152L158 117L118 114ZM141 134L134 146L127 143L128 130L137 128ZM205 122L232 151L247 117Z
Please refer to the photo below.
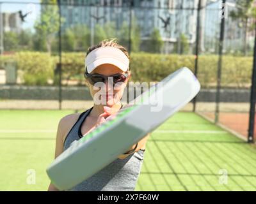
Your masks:
M214 87L217 82L218 55L200 55L198 80L202 87ZM223 87L248 87L252 76L252 57L224 55L221 70ZM134 81L159 81L173 71L186 66L195 71L195 55L131 54L130 67Z

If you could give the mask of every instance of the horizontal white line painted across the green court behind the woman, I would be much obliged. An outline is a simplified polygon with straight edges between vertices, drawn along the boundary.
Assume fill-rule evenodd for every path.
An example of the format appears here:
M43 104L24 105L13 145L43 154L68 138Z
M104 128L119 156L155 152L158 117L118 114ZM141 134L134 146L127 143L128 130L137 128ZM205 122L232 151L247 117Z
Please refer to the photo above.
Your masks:
M49 129L0 129L0 133L56 133L56 130ZM200 133L209 133L209 134L223 134L227 131L207 131L207 130L157 130L154 133L191 133L191 134L200 134Z

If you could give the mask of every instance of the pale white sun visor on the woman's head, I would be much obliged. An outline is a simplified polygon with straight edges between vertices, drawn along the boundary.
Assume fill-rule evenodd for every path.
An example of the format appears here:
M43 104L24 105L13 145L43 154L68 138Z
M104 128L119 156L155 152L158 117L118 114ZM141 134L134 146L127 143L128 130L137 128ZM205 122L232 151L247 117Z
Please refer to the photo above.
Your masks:
M115 47L99 47L92 50L85 59L85 69L88 73L97 68L101 64L113 64L122 71L127 71L129 68L129 59L122 50Z

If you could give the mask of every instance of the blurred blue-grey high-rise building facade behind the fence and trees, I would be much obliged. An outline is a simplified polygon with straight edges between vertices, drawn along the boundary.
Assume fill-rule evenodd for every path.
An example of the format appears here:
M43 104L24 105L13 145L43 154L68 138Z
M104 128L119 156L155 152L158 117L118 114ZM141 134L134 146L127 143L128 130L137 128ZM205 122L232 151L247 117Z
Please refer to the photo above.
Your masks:
M73 25L87 25L93 30L96 24L113 22L116 31L130 23L130 15L140 27L141 40L147 41L154 28L159 30L167 53L177 45L180 35L186 37L192 53L196 41L196 17L199 0L62 0L61 13L65 22L62 29ZM132 3L132 7L131 6ZM200 11L200 50L214 53L220 36L221 0L202 0ZM227 0L228 11L236 8L235 0ZM92 31L93 32L93 31ZM230 17L225 22L225 50L243 46L244 31Z

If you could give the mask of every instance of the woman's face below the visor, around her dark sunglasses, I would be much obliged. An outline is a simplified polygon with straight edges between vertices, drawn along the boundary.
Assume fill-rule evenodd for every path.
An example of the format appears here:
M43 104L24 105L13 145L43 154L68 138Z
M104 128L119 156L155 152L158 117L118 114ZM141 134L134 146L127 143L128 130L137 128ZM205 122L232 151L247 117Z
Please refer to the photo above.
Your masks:
M92 71L91 74L100 74L104 76L111 76L111 75L116 75L116 74L124 74L125 72L122 71L121 69L117 68L113 64L102 64L98 66L96 69ZM96 100L100 99L100 103L102 105L107 105L107 106L113 106L114 104L118 103L120 99L122 98L122 95L124 93L124 89L127 85L127 82L129 78L131 77L131 72L128 72L128 77L125 80L124 83L113 85L111 83L111 78L108 80L108 82L100 83L101 85L92 85L90 82L88 82L88 79L86 79L86 84L88 85L90 89L90 93L93 97L94 103ZM96 103L95 103L96 104ZM99 102L97 101L97 104Z

